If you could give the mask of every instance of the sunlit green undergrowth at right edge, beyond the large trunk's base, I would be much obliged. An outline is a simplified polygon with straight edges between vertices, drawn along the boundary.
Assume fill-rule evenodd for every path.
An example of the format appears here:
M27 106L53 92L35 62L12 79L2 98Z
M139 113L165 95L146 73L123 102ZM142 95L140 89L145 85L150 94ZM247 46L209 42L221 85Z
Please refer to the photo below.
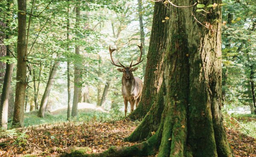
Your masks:
M256 115L224 113L224 123L226 127L234 128L247 136L256 138Z

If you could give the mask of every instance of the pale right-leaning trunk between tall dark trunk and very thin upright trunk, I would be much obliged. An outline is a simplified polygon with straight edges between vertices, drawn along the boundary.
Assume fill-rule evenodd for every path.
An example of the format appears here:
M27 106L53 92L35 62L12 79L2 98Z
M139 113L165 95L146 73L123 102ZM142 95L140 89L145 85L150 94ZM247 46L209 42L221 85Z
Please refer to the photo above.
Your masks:
M48 99L49 99L49 95L50 95L50 92L51 92L51 89L52 89L52 85L54 83L54 78L55 78L56 73L57 73L56 69L59 66L59 64L60 64L60 61L55 61L53 66L52 66L52 69L50 70L49 79L48 79L46 88L44 90L44 95L43 95L42 100L41 100L40 108L38 110L38 117L44 117L44 113L45 113L45 110L46 110L46 107L47 107L47 102L48 102Z

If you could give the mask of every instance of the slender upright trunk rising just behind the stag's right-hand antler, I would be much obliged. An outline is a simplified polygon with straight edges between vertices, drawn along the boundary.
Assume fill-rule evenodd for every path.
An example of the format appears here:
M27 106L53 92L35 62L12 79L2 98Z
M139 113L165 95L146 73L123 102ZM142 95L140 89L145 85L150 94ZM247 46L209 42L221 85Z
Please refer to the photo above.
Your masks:
M143 26L143 8L142 8L142 0L138 0L138 12L139 12L139 22L140 22L140 42L145 46L145 33ZM145 49L142 50L142 55L145 55ZM143 75L145 76L145 64L142 63L143 67Z

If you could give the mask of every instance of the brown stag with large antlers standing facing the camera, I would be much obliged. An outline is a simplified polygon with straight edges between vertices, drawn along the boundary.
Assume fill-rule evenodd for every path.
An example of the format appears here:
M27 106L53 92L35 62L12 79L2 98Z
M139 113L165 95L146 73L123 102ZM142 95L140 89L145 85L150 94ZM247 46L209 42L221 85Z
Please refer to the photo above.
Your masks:
M138 56L137 58L137 63L136 64L132 64L133 60L131 61L131 64L129 67L125 67L123 64L120 63L119 59L117 61L113 60L112 57L112 53L116 50L116 49L111 49L109 46L109 53L110 53L110 57L111 57L111 64L115 65L116 67L122 67L122 68L118 68L117 70L119 72L123 73L122 76L122 96L124 97L124 102L125 102L125 116L127 113L127 106L128 106L128 102L130 102L131 105L131 112L134 110L134 104L136 103L136 108L140 102L140 98L141 98L141 93L142 93L142 89L143 89L143 83L142 80L139 77L134 77L133 76L133 71L138 70L137 67L134 67L135 65L140 64L143 59L141 59L142 56L142 49L143 49L143 45L140 44L137 45L140 48L140 57ZM120 65L118 65L117 63L119 63Z

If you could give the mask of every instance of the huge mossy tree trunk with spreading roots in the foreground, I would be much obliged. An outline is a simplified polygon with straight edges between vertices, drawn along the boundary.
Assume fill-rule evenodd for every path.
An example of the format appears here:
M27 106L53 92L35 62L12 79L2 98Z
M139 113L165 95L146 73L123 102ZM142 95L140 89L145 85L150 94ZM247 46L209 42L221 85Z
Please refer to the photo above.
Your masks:
M172 1L177 6L195 2ZM203 3L208 6L221 0ZM170 20L165 23L171 26L170 40L158 93L164 99L156 101L156 106L164 105L158 129L137 145L80 157L148 156L157 151L158 157L232 157L221 117L221 7L207 9L207 16L196 13L196 7L170 9ZM192 12L211 28L197 23Z

